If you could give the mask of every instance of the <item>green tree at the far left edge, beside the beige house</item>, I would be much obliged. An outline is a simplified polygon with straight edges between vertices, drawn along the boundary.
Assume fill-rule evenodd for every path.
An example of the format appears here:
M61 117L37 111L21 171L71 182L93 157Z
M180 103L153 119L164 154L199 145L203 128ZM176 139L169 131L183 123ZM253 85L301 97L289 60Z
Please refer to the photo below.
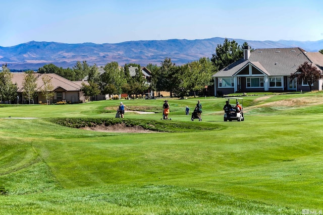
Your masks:
M9 101L10 103L17 98L17 84L12 82L13 75L7 64L3 64L0 73L0 99L1 101Z

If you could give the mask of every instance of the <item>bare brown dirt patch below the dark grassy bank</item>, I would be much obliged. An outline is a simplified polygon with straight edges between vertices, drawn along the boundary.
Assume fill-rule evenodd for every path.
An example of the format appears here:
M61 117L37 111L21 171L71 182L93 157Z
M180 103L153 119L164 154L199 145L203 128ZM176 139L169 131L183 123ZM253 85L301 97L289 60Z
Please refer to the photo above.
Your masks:
M94 130L101 132L115 132L115 133L157 133L156 131L144 129L143 127L136 125L132 127L127 127L125 123L119 123L115 125L97 125L93 127L83 127L83 130Z

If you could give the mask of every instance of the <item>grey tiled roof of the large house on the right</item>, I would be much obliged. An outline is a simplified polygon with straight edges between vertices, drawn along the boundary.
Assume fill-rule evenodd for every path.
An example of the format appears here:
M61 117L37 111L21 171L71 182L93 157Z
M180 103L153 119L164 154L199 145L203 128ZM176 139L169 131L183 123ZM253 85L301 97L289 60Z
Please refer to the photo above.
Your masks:
M306 61L323 70L323 54L319 52L306 52L301 48L255 49L249 59L241 58L213 77L233 77L247 64L252 64L267 76L289 76Z

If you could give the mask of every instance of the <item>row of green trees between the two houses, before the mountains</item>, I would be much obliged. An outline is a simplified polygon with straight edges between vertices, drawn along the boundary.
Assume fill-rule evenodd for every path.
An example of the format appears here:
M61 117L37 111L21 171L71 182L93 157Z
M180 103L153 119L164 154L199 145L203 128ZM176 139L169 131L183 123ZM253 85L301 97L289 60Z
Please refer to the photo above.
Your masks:
M243 46L248 45L244 43ZM38 73L55 73L70 81L88 77L88 85L83 84L82 91L86 96L98 94L143 94L148 88L156 92L168 91L171 96L184 97L189 92L200 92L205 86L212 85L212 75L221 68L233 63L243 56L243 46L237 42L225 39L223 45L218 45L212 58L201 57L199 60L176 65L171 58L165 58L161 65L148 64L146 67L152 73L148 84L141 74L139 64L109 62L103 66L104 73L99 74L97 66L88 65L86 61L77 62L73 68L62 68L47 64L38 69ZM129 66L136 67L136 75L130 76Z

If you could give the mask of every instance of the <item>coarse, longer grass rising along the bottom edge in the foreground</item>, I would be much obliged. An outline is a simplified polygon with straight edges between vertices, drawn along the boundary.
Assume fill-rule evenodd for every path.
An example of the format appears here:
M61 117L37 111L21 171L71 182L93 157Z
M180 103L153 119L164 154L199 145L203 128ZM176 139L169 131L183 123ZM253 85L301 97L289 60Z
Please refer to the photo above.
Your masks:
M28 214L299 214L288 207L172 185L51 190L9 195L2 203L2 214L21 214L22 209Z

